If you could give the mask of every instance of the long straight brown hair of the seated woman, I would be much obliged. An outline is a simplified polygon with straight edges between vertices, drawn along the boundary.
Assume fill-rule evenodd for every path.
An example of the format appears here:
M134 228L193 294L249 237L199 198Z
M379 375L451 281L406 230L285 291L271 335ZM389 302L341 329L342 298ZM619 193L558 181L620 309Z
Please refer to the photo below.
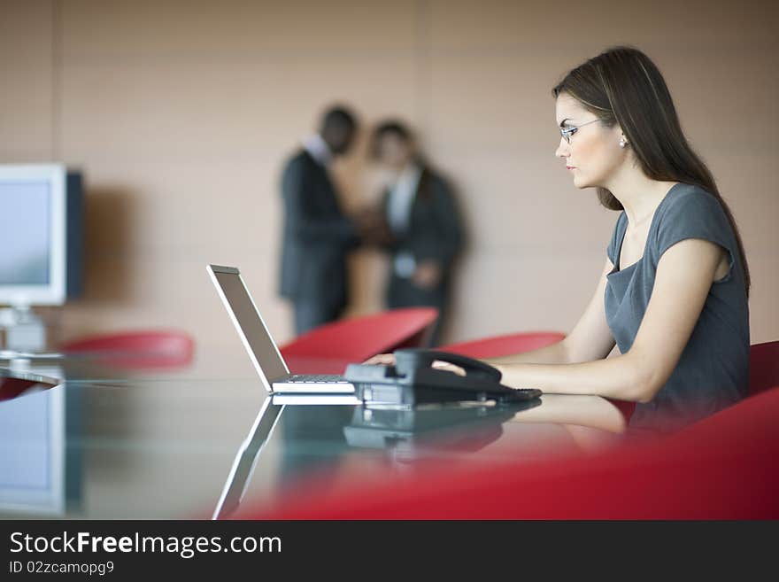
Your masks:
M717 198L736 235L748 296L749 266L733 213L709 168L684 137L666 81L652 60L640 50L615 47L570 71L551 93L555 98L567 93L606 127L619 123L647 177L693 184ZM598 198L606 208L622 210L609 190L598 188Z

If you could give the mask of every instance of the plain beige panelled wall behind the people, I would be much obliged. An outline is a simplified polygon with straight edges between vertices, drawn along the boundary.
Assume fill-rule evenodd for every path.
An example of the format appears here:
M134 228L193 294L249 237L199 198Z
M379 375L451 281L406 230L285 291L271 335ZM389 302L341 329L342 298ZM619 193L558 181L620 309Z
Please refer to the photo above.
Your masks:
M616 214L553 158L550 89L583 58L633 43L666 75L737 216L752 340L776 339L779 11L767 4L0 0L0 162L86 173L87 292L54 314L64 336L172 326L233 347L204 265L240 266L290 338L275 294L282 161L333 100L366 121L400 115L467 213L449 338L568 330ZM374 199L359 156L338 175L349 206ZM382 258L354 262L352 313L374 311Z

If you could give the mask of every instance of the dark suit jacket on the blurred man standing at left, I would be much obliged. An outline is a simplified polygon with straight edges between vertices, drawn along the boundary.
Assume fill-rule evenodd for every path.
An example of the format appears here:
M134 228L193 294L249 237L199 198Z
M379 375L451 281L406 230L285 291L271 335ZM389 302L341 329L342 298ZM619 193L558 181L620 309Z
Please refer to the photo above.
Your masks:
M284 167L282 197L282 296L344 307L346 254L357 243L357 232L338 204L326 168L308 151L299 151Z

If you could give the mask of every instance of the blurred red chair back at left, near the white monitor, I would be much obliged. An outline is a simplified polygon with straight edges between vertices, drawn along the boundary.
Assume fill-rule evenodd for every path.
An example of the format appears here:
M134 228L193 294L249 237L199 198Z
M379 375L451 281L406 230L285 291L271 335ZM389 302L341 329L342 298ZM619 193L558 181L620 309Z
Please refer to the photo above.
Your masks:
M195 342L181 331L125 331L72 340L59 349L120 366L169 368L189 364Z

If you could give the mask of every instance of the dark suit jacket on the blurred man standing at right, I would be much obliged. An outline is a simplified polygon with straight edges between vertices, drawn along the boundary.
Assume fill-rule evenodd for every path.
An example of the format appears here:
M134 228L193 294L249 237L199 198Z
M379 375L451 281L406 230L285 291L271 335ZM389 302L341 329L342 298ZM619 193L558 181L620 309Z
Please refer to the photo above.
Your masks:
M387 209L390 192L384 193ZM389 307L430 305L443 307L449 290L451 268L465 244L462 221L449 184L428 167L423 167L411 207L405 235L397 237L387 250L393 254L410 252L419 264L436 260L443 268L441 282L432 290L420 289L411 280L398 277L394 268L387 285Z

